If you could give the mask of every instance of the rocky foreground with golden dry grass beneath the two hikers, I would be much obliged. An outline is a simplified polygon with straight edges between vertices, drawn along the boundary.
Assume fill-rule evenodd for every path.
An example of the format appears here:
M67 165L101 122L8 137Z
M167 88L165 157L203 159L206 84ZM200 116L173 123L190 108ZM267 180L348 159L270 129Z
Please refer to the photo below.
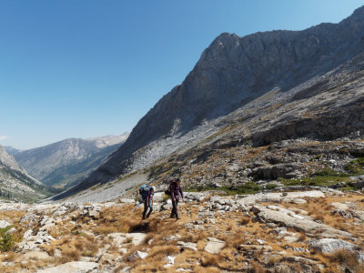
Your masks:
M181 219L155 196L95 204L0 204L1 272L362 272L364 196L278 187L187 193Z

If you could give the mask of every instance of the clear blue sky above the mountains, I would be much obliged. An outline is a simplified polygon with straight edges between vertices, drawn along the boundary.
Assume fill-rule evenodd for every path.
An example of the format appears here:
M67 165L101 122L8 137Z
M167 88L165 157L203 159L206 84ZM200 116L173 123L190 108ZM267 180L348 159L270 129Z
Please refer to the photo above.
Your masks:
M363 1L2 0L0 144L131 131L222 32L337 23Z

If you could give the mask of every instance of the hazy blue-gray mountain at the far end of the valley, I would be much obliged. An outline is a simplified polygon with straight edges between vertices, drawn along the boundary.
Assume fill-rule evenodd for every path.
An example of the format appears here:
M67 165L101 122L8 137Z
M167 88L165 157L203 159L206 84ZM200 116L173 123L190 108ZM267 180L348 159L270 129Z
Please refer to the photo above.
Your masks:
M68 138L45 147L20 151L7 147L33 177L52 187L72 187L87 177L125 141L121 136Z

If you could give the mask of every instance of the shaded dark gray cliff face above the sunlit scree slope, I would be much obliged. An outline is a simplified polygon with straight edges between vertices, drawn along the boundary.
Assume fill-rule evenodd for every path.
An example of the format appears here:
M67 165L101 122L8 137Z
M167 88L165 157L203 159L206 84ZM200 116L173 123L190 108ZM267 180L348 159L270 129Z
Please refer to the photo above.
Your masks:
M296 86L313 85L313 78L359 56L363 49L364 7L339 24L303 31L219 35L184 82L137 123L126 143L66 195L128 172L138 158L148 157L141 151L157 141L185 136L269 92L284 97Z

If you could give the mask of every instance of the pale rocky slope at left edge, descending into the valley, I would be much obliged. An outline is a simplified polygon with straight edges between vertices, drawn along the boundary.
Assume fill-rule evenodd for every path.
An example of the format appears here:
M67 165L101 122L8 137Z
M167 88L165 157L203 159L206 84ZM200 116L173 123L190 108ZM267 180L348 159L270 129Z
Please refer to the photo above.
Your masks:
M32 202L49 195L47 187L29 176L0 146L0 199Z

